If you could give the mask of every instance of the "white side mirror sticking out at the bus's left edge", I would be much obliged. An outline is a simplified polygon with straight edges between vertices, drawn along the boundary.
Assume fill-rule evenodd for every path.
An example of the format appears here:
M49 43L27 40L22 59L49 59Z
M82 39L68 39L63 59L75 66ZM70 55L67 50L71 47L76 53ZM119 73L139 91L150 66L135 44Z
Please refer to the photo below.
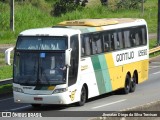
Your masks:
M11 65L11 52L13 49L14 49L14 47L11 47L5 51L5 63L7 65Z

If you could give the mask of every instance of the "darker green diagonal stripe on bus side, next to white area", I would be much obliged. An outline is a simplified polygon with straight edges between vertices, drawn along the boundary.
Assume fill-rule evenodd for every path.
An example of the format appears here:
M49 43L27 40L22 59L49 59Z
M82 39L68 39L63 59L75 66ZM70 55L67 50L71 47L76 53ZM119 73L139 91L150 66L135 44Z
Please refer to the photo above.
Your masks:
M106 93L106 88L105 88L105 84L104 84L104 80L103 80L104 78L103 78L103 73L101 70L99 58L98 58L98 56L93 56L93 57L91 57L91 60L92 60L92 64L93 64L93 68L94 68L94 72L95 72L95 76L96 76L96 81L98 84L99 94Z

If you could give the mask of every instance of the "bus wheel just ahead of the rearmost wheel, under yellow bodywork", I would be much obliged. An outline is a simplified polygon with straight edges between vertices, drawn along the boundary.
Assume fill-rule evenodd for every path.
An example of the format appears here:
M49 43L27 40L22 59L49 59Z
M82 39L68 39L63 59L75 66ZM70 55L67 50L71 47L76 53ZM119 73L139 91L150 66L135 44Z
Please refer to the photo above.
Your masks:
M123 88L123 93L124 94L128 94L131 88L131 78L130 76L127 74L126 75L126 80L125 80L125 86Z

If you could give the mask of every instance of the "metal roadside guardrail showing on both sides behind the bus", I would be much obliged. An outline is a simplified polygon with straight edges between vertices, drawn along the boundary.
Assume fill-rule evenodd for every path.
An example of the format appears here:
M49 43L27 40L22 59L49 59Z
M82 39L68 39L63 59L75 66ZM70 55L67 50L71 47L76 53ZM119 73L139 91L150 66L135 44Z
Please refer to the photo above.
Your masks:
M160 46L150 49L149 54L153 54L153 53L158 52L158 51L160 51ZM12 78L5 79L5 80L0 80L0 86L1 85L6 85L6 84L11 84L12 80L13 80Z

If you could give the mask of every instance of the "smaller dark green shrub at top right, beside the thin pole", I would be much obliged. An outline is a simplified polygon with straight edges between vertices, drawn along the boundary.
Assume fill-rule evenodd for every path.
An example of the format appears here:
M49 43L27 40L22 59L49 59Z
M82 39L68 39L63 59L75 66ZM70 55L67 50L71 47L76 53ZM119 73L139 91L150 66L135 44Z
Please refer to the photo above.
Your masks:
M118 9L138 9L140 8L140 3L142 3L143 0L120 0L117 2L116 7ZM146 0L144 0L146 2Z

